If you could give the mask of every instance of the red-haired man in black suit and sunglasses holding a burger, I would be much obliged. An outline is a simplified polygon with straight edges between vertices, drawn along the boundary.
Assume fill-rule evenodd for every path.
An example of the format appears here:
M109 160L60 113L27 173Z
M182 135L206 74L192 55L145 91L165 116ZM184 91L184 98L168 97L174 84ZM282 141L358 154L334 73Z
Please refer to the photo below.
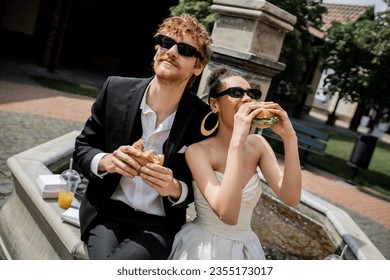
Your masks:
M211 37L190 15L166 19L148 79L110 77L81 134L74 159L89 179L80 207L91 259L165 259L193 201L184 151L200 141L209 106L186 87L210 59ZM164 154L163 166L137 162L131 144Z

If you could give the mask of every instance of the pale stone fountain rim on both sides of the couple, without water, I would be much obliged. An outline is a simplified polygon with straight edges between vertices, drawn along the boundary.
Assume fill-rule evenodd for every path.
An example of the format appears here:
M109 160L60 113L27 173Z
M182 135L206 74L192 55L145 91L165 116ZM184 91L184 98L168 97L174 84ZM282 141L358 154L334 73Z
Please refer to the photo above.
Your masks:
M0 255L3 252L6 259L88 259L79 228L63 222L64 210L57 200L43 199L36 186L38 175L68 164L79 133L70 132L7 160L15 188L0 209ZM385 259L345 211L307 191L301 203L323 213L357 259Z

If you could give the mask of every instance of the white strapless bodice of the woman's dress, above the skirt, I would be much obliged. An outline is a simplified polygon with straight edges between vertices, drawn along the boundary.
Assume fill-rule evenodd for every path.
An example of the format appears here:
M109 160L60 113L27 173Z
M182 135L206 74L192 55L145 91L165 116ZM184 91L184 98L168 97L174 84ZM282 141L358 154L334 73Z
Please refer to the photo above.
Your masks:
M215 171L218 180L222 182L224 174ZM241 207L238 222L234 226L223 223L211 209L202 193L194 182L195 209L197 216L194 223L205 230L224 238L233 240L245 240L251 232L251 218L253 209L260 199L262 193L262 182L257 173L248 181L242 189Z

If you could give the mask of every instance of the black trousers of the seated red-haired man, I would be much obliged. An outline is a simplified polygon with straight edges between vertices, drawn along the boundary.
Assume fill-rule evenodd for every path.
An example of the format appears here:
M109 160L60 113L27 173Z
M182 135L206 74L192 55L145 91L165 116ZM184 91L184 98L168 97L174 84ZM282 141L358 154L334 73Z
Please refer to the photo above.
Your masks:
M171 251L175 234L165 217L136 211L109 200L99 211L99 221L89 233L92 260L162 260Z

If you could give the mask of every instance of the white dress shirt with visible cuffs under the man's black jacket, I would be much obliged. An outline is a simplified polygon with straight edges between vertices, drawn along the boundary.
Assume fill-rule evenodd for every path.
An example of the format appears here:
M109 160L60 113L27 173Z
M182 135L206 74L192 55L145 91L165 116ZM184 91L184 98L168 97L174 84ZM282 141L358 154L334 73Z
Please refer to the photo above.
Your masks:
M146 89L146 94L147 92L148 89ZM162 146L171 131L176 112L172 113L158 127L156 127L157 115L148 106L148 104L146 104L146 94L144 94L140 105L140 109L142 110L141 122L144 148L145 151L153 150L156 154L162 154ZM90 164L91 171L99 177L107 174L98 173L99 161L105 154L106 153L97 154ZM180 181L180 183L182 186L181 197L177 202L172 202L172 204L181 203L187 197L188 187L184 182ZM139 211L158 216L165 216L164 206L160 194L148 184L144 183L140 176L136 176L132 179L122 176L119 181L119 186L111 196L111 199L120 200Z

